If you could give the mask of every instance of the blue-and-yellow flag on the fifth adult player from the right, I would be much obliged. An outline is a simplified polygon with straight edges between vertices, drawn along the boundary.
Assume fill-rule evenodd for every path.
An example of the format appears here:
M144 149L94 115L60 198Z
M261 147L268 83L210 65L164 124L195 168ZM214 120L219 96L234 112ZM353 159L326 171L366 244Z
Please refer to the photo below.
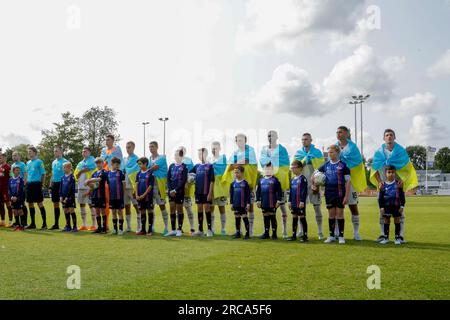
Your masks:
M250 188L256 188L258 179L258 162L256 161L256 153L253 147L245 145L245 150L236 150L230 158L230 164L225 171L225 181L228 185L233 182L234 165L241 164L244 166L244 179L248 182Z

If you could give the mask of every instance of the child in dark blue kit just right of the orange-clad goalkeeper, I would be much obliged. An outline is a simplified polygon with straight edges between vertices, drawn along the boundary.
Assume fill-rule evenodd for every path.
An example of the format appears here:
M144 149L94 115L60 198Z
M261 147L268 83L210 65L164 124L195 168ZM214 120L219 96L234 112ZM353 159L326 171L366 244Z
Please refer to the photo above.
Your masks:
M111 159L111 170L108 171L109 186L109 208L113 215L113 234L123 235L123 194L125 189L125 174L120 170L121 161L119 158ZM117 219L118 218L118 219ZM117 221L119 227L117 227Z

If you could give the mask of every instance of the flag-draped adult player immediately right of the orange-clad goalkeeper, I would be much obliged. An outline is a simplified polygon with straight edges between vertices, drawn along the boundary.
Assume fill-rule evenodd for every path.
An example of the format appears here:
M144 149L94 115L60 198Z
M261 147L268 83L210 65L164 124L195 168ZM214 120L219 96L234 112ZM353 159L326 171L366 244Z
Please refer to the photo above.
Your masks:
M137 200L133 197L133 182L136 181L136 176L139 173L138 160L139 157L134 153L136 144L133 141L127 142L126 149L128 156L123 158L122 170L125 172L125 193L124 193L124 203L125 203L125 219L127 221L127 232L131 232L131 205L137 213L137 229L139 232L141 227L141 217L140 210L138 208ZM148 166L148 163L147 163ZM152 223L153 225L153 223Z

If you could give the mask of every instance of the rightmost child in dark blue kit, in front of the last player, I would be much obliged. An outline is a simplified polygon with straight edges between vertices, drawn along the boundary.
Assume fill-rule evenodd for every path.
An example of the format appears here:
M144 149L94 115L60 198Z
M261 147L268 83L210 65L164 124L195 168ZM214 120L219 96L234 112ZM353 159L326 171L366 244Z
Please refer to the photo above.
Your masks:
M403 191L403 182L395 178L396 170L394 166L386 166L386 181L381 183L380 193L378 194L378 204L380 214L384 217L383 240L380 244L389 243L389 227L391 216L395 223L395 244L402 244L400 235L400 218L405 207L405 192Z

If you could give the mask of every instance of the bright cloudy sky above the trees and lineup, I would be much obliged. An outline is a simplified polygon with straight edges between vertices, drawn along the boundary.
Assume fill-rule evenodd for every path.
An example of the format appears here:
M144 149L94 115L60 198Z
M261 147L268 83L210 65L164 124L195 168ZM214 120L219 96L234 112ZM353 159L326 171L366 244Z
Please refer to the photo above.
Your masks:
M364 106L365 153L385 128L404 145L450 145L448 0L22 0L0 3L0 146L40 141L61 112L108 105L142 154L233 149L268 129L320 147ZM359 117L359 115L358 115ZM124 141L122 141L124 142Z

